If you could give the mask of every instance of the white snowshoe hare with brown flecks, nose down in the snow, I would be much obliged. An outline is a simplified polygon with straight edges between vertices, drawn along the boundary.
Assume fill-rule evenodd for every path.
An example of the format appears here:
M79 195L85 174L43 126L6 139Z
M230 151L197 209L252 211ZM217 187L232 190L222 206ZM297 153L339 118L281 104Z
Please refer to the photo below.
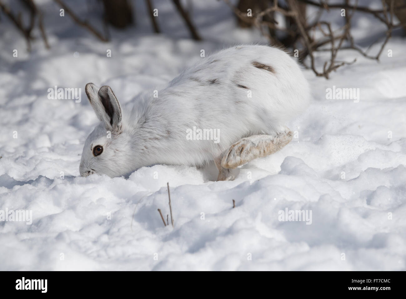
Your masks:
M83 177L214 160L217 179L228 180L231 168L292 140L285 124L307 107L310 89L287 53L246 45L202 58L158 96L138 96L129 108L122 109L109 86L89 83L86 94L101 123L86 139Z

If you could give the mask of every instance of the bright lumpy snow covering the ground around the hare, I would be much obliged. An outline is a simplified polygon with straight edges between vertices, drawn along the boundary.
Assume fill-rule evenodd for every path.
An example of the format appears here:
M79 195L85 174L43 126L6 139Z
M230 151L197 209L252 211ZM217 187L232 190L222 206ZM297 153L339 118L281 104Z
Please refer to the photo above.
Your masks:
M172 4L155 2L166 34L151 34L141 7L138 27L112 31L113 41L104 44L59 17L56 4L41 1L53 15L45 23L52 24L52 49L39 39L30 54L2 18L0 210L31 210L32 224L0 222L0 270L405 270L400 37L387 44L380 63L346 52L343 59L358 61L330 80L305 71L313 100L289 124L297 138L237 170L234 181L213 181L214 165L156 165L128 179L78 176L83 142L97 124L86 83L110 85L125 103L201 59L201 49L261 41L253 31L235 30L218 1L195 4L205 41L191 41ZM356 20L359 35L382 29ZM82 101L48 99L54 85L82 88ZM326 99L333 85L359 88L359 103ZM166 182L174 228L164 227L157 211L169 213ZM311 224L279 221L286 208L311 211Z

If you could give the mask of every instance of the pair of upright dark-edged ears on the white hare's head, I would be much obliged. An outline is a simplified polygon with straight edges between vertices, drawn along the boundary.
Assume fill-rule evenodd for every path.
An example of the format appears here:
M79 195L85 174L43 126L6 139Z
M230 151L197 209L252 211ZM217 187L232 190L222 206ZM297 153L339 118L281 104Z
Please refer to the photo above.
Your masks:
M121 130L121 107L110 86L102 86L98 91L93 83L86 85L86 95L97 118L104 122L106 128Z

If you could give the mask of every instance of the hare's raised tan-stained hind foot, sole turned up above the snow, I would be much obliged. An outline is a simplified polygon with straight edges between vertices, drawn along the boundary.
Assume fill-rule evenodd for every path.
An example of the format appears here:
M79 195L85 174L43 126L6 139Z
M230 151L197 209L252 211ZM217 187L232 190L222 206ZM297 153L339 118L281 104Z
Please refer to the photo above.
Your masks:
M236 168L242 164L250 162L253 159L265 157L276 153L292 140L292 132L285 127L285 130L272 135L252 135L242 138L235 142L226 151L221 160L221 168L218 168L220 174L222 169ZM217 165L217 164L216 164Z

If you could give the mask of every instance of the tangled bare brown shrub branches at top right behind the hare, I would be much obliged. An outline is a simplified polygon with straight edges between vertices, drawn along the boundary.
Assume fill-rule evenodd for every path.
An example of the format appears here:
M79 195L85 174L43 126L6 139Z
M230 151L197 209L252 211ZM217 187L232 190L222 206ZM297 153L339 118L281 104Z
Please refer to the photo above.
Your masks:
M393 28L402 26L402 22L399 24L393 24L394 9L404 9L406 5L396 6L394 0L381 0L382 9L369 9L368 7L359 7L358 2L350 4L349 0L343 0L343 3L329 4L326 1L314 2L313 0L287 0L287 6L281 5L277 0L273 1L273 5L263 9L261 12L256 13L253 17L248 17L245 13L242 13L238 8L234 7L230 0L223 0L232 9L234 14L244 22L251 22L261 32L261 34L267 37L270 44L276 44L278 46L299 48L298 60L302 62L307 68L313 70L316 76L324 76L328 79L329 74L337 68L352 64L356 61L338 61L337 55L341 50L355 50L364 57L369 59L375 59L379 61L379 57L382 54L385 45L391 37ZM385 3L386 2L386 3ZM388 3L390 2L390 3ZM399 3L399 2L398 2ZM317 15L312 20L312 24L307 25L307 18L303 14L302 5L309 4L319 7ZM346 9L345 24L333 31L332 25L326 21L320 21L324 11L330 9ZM264 16L272 14L274 12L281 13L287 20L292 20L295 26L291 28L285 28L280 26L277 22L269 22L263 19ZM386 36L380 46L379 52L375 55L369 55L369 49L376 44L374 41L366 51L356 45L354 38L351 35L351 19L355 12L368 13L376 17L380 22L387 26ZM269 35L263 28L268 27L273 31L279 31L286 33L288 37L284 37L281 40L276 39L276 34ZM296 28L297 27L297 28ZM315 38L315 33L320 33L319 37ZM321 35L321 37L320 37ZM289 38L290 36L290 38ZM330 58L328 61L322 63L322 70L316 68L315 52L330 52ZM305 59L308 58L309 66L305 63Z

